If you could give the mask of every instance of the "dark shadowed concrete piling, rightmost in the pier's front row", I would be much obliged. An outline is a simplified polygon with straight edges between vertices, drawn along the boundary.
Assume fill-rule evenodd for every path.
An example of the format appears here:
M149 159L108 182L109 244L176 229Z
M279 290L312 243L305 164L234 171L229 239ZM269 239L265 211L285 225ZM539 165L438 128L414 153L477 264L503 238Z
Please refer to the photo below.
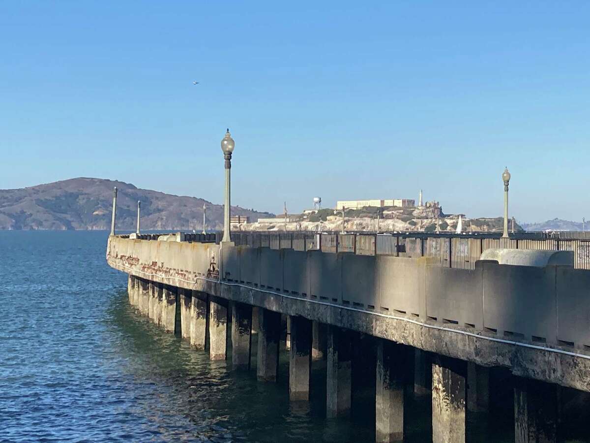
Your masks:
M514 442L557 441L558 386L518 379L514 386Z

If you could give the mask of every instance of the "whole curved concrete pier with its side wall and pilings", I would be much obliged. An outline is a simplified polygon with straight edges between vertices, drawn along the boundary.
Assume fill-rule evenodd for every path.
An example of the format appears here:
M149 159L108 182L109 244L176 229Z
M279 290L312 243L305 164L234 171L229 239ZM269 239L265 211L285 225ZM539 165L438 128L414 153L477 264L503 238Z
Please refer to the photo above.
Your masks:
M355 348L370 337L379 442L404 438L408 374L415 395L431 396L435 443L466 441L466 417L489 408L496 370L513 379L516 442L556 441L560 388L590 392L590 271L573 266L572 251L489 249L456 269L369 255L358 239L327 252L320 234L278 245L249 235L243 243L260 243L112 235L107 262L129 275L131 305L211 360L248 369L257 346L260 382L276 380L288 339L293 401L309 399L312 359L326 358L328 417L349 415Z

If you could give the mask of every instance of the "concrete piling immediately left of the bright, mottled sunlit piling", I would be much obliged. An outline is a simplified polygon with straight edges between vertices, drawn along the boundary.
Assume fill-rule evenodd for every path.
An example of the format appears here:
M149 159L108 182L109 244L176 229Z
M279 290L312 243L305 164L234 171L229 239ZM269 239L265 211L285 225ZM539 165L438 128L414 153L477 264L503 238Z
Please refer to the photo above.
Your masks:
M379 339L375 391L375 441L404 440L404 379L407 348Z

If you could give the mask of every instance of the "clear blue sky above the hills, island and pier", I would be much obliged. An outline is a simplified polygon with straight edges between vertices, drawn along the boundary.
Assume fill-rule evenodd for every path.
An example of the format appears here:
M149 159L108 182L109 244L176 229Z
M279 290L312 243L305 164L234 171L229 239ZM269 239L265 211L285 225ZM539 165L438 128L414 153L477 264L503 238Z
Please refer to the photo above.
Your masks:
M590 219L590 2L0 4L0 188ZM192 82L201 82L193 86Z

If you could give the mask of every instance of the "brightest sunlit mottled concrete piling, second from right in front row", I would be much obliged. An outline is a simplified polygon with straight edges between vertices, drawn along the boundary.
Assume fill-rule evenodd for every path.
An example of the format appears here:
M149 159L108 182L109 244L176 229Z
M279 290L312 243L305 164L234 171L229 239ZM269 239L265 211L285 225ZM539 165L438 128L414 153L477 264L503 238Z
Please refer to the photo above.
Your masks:
M432 363L432 443L465 441L467 363L436 356Z

